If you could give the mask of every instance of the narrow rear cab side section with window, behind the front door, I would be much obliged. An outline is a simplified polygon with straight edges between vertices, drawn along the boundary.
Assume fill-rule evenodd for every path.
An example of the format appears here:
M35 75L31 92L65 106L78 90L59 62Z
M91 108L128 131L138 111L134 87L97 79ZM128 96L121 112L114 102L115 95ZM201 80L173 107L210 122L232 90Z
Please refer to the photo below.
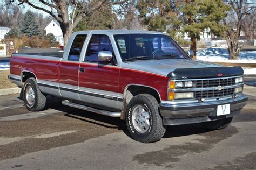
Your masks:
M59 68L59 89L62 97L79 100L78 70L80 54L86 34L78 34L73 38L68 56L64 56ZM67 46L68 48L68 46Z

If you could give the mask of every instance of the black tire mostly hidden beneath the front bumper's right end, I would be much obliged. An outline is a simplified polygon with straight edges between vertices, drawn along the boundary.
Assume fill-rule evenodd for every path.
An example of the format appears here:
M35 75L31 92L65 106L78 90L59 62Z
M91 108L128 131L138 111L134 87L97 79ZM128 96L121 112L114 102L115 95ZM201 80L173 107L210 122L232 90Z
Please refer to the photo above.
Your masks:
M203 125L206 129L219 130L227 128L227 126L231 123L232 119L233 117L229 117L225 119L219 119L217 121L202 122L201 125Z

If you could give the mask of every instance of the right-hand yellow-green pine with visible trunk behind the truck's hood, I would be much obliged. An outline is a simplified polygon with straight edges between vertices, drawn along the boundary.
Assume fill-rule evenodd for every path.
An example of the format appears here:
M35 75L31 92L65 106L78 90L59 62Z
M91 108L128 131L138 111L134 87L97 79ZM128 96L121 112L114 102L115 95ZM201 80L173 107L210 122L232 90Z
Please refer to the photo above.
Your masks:
M224 36L227 27L220 23L227 16L230 7L221 0L186 0L181 12L183 13L183 32L188 33L194 51L193 59L196 59L197 40L200 40L200 32L209 29L209 34Z

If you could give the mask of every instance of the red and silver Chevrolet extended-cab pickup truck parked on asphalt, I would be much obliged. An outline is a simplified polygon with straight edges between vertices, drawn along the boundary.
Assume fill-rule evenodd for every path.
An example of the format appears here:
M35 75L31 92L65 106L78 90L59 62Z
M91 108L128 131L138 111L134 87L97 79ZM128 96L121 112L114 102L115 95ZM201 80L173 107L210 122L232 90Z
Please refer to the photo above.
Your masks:
M191 60L170 36L152 31L75 32L64 53L15 53L9 79L26 108L63 104L126 121L131 137L158 141L166 125L225 128L245 106L241 67Z

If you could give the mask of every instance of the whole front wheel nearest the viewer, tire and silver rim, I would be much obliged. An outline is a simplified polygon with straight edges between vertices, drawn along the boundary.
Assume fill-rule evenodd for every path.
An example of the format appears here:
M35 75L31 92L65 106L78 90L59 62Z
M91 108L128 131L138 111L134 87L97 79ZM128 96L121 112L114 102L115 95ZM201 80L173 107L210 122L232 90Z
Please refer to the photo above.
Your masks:
M126 125L131 137L142 143L152 143L164 136L166 127L159 115L159 104L152 95L139 94L127 105Z

